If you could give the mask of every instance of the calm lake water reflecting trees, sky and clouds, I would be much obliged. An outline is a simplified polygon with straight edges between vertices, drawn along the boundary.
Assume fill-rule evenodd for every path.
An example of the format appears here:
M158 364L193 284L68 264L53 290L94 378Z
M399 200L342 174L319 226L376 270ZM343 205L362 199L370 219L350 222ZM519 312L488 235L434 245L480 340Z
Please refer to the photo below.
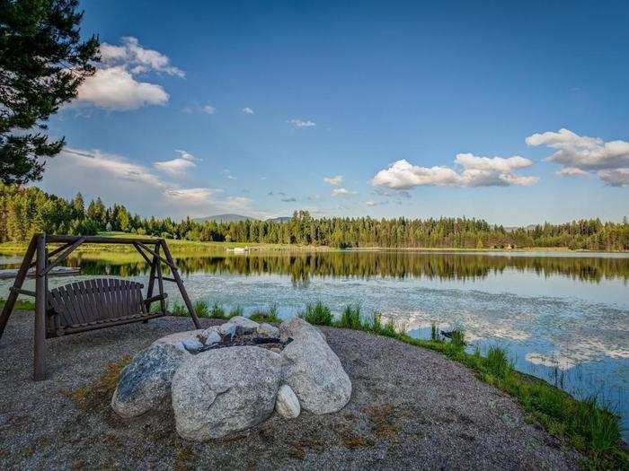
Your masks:
M114 254L115 255L115 254ZM176 257L192 299L245 313L277 305L281 317L322 300L339 312L359 302L413 336L434 322L460 327L470 348L502 345L520 371L578 397L597 394L629 431L629 255L418 253L406 251ZM2 257L16 267L17 257ZM140 257L69 260L81 279L116 275L146 281ZM73 278L72 280L74 280ZM68 283L52 278L50 286ZM6 296L10 282L0 282ZM32 282L31 282L32 283ZM165 283L171 296L172 283Z

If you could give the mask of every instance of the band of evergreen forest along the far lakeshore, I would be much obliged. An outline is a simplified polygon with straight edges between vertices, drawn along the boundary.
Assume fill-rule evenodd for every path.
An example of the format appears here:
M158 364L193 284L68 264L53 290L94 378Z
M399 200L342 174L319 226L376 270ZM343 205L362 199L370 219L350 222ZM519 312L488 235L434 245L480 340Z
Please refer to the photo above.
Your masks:
M173 221L141 217L124 205L106 206L101 198L87 205L49 195L36 187L0 185L0 242L30 240L32 234L93 235L124 231L167 239L329 246L341 249L390 247L435 249L568 248L629 250L629 223L598 219L542 223L507 229L474 218L374 219L314 218L297 211L288 222Z

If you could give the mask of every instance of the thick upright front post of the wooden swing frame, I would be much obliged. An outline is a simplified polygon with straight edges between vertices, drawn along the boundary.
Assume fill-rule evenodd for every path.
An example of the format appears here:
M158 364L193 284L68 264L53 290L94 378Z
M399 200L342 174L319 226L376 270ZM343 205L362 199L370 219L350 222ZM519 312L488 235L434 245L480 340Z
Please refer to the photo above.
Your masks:
M35 273L35 348L33 379L46 378L46 235L37 236L37 271Z

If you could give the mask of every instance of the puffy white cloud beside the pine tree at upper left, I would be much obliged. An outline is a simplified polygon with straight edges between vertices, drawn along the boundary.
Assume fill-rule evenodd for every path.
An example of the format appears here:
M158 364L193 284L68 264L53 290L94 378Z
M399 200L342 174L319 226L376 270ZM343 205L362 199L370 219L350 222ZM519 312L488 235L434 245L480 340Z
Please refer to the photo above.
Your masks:
M122 38L121 46L102 43L101 63L79 86L76 104L112 111L164 105L169 95L161 85L137 80L137 75L148 73L185 76L168 57L143 48L136 38Z

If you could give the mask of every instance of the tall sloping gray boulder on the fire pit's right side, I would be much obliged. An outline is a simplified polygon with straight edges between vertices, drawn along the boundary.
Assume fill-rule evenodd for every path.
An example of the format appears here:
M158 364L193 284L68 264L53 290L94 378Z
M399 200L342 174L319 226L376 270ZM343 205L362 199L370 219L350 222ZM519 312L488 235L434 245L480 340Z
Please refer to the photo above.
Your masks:
M282 323L279 332L293 339L281 353L282 382L295 391L301 407L314 414L341 410L350 400L351 381L323 333L296 318Z

